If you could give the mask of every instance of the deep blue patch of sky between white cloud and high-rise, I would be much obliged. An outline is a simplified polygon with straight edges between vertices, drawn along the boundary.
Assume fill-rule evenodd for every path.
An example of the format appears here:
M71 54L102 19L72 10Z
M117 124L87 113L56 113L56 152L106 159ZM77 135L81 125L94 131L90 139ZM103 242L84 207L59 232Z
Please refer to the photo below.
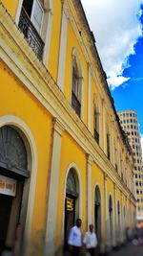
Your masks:
M143 12L140 22L143 24ZM138 38L134 45L134 55L128 58L128 62L130 66L124 69L123 76L130 77L130 80L111 90L112 97L117 110L137 111L140 133L143 134L143 37Z

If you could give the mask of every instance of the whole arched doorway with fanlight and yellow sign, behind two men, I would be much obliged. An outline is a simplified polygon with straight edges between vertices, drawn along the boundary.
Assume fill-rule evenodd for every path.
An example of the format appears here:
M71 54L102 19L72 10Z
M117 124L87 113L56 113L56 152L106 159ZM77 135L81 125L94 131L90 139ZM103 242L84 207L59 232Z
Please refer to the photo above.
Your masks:
M79 216L79 182L76 172L73 168L70 169L65 198L65 245L67 246L69 231L74 225L76 218Z

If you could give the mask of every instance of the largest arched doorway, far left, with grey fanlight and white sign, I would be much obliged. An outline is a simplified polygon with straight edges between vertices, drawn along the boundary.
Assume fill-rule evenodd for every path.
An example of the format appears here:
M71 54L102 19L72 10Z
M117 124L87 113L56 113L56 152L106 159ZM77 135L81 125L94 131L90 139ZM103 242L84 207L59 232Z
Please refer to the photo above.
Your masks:
M10 126L0 128L0 254L5 246L13 247L18 240L16 229L21 222L24 185L29 175L22 133Z

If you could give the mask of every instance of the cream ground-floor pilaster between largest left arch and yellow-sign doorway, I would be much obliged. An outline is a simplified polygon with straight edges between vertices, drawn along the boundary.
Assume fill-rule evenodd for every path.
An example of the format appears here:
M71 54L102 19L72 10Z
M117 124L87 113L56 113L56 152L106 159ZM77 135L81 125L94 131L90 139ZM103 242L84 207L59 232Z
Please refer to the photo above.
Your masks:
M53 118L53 143L51 153L51 176L49 182L49 199L47 207L47 221L45 232L44 255L53 256L55 249L57 200L59 189L59 169L61 156L61 142L64 131L63 125L57 118ZM53 185L54 184L54 185Z

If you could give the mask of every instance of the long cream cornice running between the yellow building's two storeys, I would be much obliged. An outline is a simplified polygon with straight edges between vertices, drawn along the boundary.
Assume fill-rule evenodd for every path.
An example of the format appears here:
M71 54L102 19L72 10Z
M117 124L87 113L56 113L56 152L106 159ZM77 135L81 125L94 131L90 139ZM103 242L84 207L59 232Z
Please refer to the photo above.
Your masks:
M0 4L2 26L0 28L0 57L10 68L14 76L23 83L31 94L43 105L58 122L58 131L67 131L78 145L88 154L93 155L93 161L109 175L118 187L128 195L128 190L117 180L113 167L105 153L94 141L92 134L75 114L66 97L53 81L51 74L42 62L36 58L24 35L17 29L10 15ZM56 121L56 122L55 122ZM127 189L127 188L126 188Z

